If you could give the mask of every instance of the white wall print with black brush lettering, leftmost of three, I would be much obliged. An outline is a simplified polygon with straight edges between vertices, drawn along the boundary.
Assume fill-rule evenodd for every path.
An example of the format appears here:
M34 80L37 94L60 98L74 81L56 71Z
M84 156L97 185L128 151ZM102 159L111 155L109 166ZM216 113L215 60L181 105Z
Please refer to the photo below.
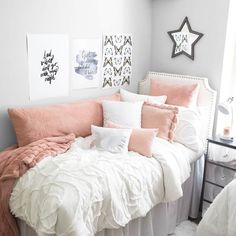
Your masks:
M69 94L69 41L64 34L28 34L30 100Z

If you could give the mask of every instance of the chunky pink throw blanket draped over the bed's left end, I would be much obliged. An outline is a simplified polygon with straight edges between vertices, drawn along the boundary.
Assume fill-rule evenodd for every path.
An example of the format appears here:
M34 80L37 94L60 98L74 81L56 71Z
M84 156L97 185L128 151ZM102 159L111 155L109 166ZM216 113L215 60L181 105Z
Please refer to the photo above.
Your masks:
M74 134L44 138L20 148L14 146L0 152L1 236L19 236L16 220L9 208L9 199L16 179L46 156L56 156L67 151L74 139Z

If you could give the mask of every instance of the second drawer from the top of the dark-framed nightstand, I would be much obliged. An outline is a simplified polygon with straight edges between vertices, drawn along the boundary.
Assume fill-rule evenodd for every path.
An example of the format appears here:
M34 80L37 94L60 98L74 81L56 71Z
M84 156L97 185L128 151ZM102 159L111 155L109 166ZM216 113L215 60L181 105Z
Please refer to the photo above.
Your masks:
M234 178L234 175L235 171L233 170L226 169L221 166L216 166L207 162L205 179L210 182L224 187Z

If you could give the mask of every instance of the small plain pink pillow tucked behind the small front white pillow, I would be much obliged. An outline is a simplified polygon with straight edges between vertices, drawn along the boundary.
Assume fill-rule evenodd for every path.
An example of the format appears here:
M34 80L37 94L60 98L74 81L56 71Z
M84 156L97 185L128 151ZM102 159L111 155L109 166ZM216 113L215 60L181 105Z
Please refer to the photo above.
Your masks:
M125 128L110 121L107 124L109 128ZM151 157L152 144L157 133L158 129L132 129L128 150Z

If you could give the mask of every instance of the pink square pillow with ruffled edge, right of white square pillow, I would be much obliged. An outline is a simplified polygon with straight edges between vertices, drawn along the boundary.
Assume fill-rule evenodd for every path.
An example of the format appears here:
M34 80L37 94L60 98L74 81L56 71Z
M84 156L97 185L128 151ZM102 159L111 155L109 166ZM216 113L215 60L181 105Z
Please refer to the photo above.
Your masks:
M173 141L178 108L145 103L142 109L142 128L158 128L158 137Z

